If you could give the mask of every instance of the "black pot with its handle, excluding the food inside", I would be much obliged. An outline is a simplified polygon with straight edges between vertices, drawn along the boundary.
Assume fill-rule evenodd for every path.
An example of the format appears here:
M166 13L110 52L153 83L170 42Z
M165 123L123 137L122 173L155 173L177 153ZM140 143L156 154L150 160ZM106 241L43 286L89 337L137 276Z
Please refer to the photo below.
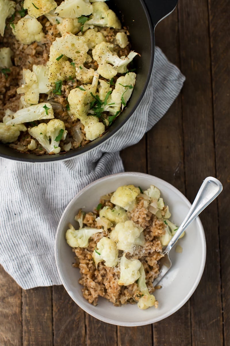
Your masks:
M11 160L24 162L52 162L66 160L81 155L97 147L113 136L131 117L140 103L147 88L154 58L154 28L157 23L169 15L177 5L178 0L110 0L108 6L116 12L119 19L129 28L132 49L141 54L135 58L137 82L132 97L126 109L110 126L102 137L99 137L84 147L71 150L65 154L34 155L14 151L0 144L0 156Z

